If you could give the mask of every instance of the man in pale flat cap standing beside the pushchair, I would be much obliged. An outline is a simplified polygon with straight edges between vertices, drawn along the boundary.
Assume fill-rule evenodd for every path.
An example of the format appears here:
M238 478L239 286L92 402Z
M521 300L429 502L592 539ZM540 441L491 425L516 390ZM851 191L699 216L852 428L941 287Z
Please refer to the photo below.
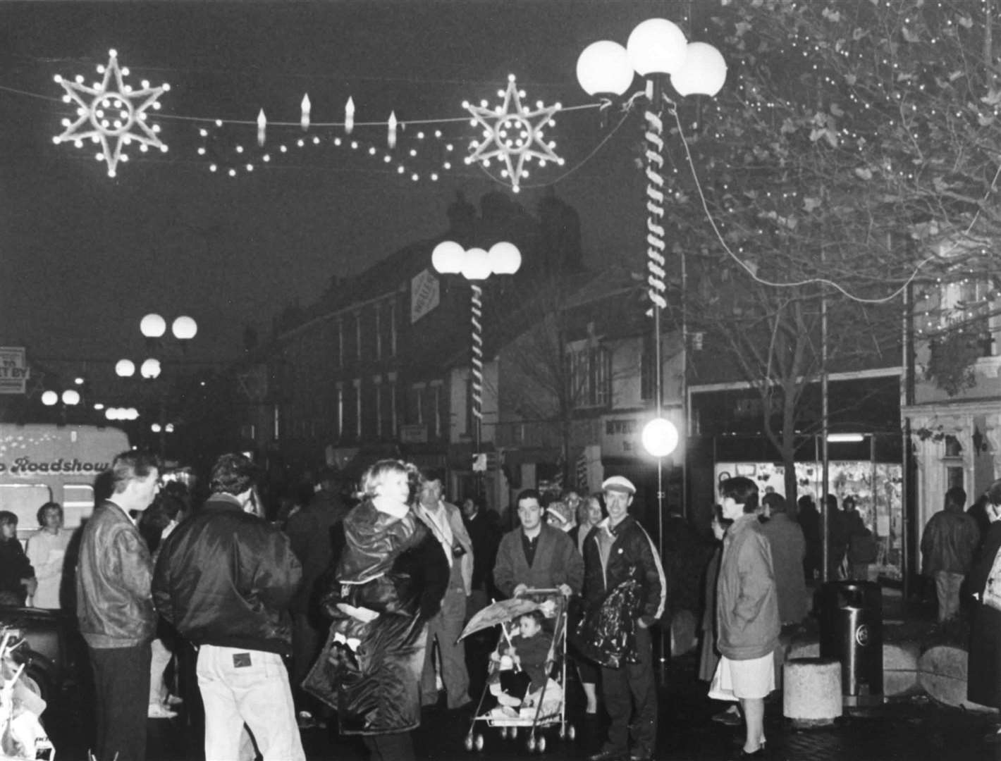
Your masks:
M653 758L657 738L657 687L650 627L664 615L667 580L661 557L650 535L629 514L636 486L624 476L602 484L609 516L595 526L584 542L584 598L601 605L617 586L631 578L642 587L637 620L637 663L602 667L602 694L612 723L601 751L589 761L646 761Z

